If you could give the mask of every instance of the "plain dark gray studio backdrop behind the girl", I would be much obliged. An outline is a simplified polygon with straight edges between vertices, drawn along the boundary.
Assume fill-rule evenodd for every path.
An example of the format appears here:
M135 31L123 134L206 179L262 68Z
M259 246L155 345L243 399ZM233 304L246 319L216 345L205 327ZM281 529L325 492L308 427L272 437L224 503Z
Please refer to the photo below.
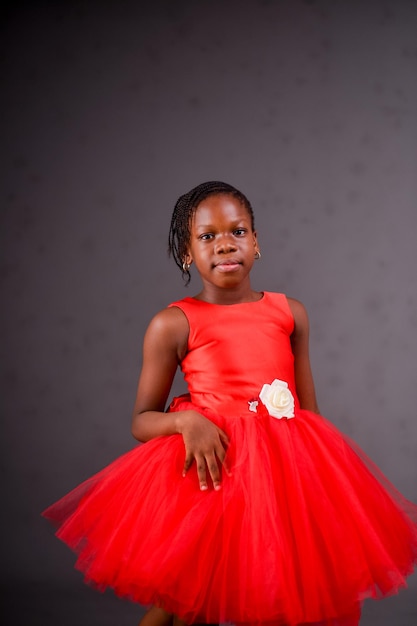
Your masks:
M25 604L67 623L34 597L84 597L40 512L134 445L144 331L199 289L167 258L171 211L204 180L254 206L254 287L307 306L322 413L417 501L417 3L13 2L4 18L2 576L32 593L8 623ZM387 623L411 624L410 585L366 623L395 606ZM103 624L88 593L85 623Z

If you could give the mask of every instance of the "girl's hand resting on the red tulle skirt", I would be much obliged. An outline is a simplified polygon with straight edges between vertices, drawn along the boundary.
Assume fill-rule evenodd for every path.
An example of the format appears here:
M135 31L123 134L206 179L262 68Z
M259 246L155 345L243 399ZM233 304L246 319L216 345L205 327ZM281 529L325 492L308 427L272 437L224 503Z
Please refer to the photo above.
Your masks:
M230 475L225 460L226 448L229 445L226 433L197 411L184 411L180 432L185 445L183 476L195 461L200 489L202 491L208 489L207 469L214 489L216 491L221 489L221 471L218 460L226 473Z

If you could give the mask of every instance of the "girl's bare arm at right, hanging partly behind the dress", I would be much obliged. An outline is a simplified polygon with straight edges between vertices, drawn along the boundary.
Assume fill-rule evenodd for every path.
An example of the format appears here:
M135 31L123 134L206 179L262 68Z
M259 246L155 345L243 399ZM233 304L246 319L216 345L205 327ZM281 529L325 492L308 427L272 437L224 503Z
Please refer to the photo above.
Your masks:
M294 354L295 385L300 406L302 409L307 409L313 413L320 413L310 365L310 331L307 311L301 302L293 298L288 298L288 304L294 317L291 346Z

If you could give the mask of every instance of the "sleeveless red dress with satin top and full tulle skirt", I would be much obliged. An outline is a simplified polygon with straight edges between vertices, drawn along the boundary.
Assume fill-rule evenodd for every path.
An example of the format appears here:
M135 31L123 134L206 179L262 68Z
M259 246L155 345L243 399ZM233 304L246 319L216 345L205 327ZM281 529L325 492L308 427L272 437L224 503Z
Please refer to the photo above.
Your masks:
M357 624L365 598L405 586L417 506L331 423L300 409L284 295L171 306L189 322L189 395L169 410L194 408L226 431L232 475L220 491L200 491L195 467L182 477L182 437L158 437L45 517L88 582L189 623ZM293 401L281 418L259 397L274 380Z

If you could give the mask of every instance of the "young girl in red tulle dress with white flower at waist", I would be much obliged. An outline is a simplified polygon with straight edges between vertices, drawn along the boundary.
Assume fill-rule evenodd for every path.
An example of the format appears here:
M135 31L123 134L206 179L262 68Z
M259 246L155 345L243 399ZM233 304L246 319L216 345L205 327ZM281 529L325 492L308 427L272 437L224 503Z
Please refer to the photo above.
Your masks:
M303 305L251 287L247 198L191 190L169 249L202 289L146 332L132 424L146 443L44 515L87 581L153 605L143 625L357 625L412 572L417 506L319 415ZM189 393L165 410L178 366Z

